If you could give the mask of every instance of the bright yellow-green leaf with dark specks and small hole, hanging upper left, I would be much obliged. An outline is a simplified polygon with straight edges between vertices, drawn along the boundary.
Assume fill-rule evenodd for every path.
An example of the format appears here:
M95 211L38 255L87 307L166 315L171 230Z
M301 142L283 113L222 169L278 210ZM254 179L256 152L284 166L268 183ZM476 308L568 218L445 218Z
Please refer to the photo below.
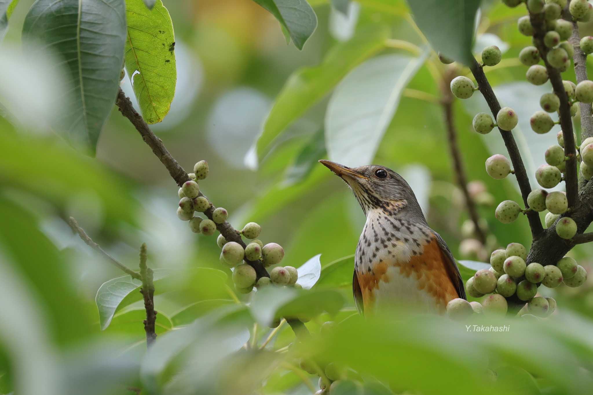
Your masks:
M149 124L169 112L177 82L173 23L161 0L153 3L149 9L142 0L126 1L126 70Z

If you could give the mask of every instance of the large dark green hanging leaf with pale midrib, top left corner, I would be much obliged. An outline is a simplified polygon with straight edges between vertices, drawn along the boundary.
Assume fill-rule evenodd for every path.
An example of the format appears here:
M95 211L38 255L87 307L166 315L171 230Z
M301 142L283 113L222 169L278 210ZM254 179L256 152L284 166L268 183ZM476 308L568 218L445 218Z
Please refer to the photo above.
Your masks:
M72 99L63 103L70 111L60 131L94 155L119 89L124 1L37 0L25 17L23 37L40 40L60 55L55 66L67 68L72 88Z

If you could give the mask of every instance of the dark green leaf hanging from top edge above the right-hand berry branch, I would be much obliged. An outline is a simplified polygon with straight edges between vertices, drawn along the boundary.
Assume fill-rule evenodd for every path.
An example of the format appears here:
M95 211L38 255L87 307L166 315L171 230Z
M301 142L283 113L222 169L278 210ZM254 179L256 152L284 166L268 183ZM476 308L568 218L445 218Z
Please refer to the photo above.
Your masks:
M416 24L435 51L471 65L474 20L480 0L408 0Z

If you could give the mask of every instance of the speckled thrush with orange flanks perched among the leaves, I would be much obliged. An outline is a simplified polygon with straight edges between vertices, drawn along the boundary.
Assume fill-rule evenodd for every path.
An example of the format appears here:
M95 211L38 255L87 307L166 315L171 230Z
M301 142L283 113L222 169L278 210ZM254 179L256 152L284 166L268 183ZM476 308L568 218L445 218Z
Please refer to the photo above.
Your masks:
M428 226L401 175L379 165L349 168L330 160L319 162L346 182L366 216L352 278L359 313L406 307L442 314L452 299L466 299L455 258Z

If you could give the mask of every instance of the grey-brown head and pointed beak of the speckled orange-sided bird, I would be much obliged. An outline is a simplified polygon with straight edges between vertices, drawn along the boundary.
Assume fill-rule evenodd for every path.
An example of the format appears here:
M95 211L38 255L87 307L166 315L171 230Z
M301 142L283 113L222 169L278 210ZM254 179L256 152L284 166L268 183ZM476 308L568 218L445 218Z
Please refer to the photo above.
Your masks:
M330 160L319 162L348 184L365 214L372 210L381 210L393 216L412 206L417 207L422 215L410 185L390 168L378 165L349 168Z

